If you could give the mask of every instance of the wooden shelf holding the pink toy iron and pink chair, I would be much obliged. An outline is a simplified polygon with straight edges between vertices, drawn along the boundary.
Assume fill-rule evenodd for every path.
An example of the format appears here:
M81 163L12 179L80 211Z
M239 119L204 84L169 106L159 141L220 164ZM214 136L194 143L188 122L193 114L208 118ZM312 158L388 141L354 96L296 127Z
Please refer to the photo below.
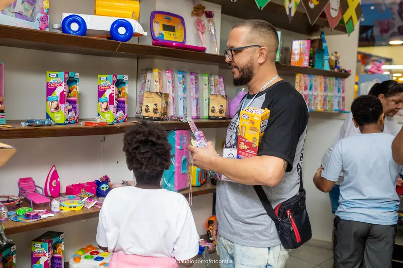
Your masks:
M200 187L193 187L193 196L206 195L210 193L214 193L216 191L216 186L211 185L210 183L206 183ZM185 197L189 197L190 189L185 189L180 191L182 195ZM30 207L30 203L24 200L23 204L20 207ZM50 211L49 206L35 206L35 209L47 209ZM5 234L16 234L27 231L32 231L40 228L51 227L55 225L76 222L87 220L91 218L96 218L99 215L98 208L92 207L91 209L82 208L79 211L69 211L69 212L59 212L55 213L53 217L49 217L47 219L39 220L36 222L15 222L11 220L7 220L2 222L5 228Z

